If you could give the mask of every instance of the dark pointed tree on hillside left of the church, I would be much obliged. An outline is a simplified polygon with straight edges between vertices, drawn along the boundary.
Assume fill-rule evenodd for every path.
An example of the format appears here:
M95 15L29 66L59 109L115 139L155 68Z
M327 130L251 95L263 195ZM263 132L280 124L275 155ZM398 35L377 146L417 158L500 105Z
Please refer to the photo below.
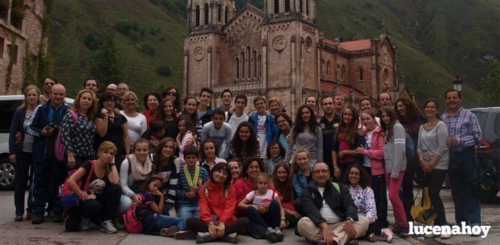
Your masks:
M120 82L123 80L122 67L120 55L115 46L113 36L104 36L103 44L91 55L91 75L97 77L101 85L108 85L111 82Z

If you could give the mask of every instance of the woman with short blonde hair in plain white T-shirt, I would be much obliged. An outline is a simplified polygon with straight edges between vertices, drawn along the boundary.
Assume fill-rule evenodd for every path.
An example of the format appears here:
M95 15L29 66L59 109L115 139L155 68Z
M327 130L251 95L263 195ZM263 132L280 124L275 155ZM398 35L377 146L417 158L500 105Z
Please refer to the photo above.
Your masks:
M123 111L120 111L120 113L127 119L130 151L133 151L135 141L148 129L148 121L146 120L146 116L135 110L139 100L134 92L126 92L123 99L125 104L123 104Z

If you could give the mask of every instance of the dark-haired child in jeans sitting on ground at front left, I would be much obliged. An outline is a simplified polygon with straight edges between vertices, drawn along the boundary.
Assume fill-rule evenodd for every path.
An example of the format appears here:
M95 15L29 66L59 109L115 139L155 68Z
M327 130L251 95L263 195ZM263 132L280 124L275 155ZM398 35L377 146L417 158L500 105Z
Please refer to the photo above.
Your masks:
M139 197L143 204L136 207L137 216L143 224L142 233L160 236L174 236L179 230L186 230L185 219L162 215L163 193L160 191L163 179L153 175L140 186ZM133 208L133 207L130 207Z

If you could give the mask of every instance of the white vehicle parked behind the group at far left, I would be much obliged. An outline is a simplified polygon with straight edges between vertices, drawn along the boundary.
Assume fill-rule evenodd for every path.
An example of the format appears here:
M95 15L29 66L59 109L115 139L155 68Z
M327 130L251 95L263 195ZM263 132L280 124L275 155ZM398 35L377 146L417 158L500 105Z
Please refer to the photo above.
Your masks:
M0 96L0 190L13 190L16 178L16 164L9 160L9 132L12 117L23 103L24 95ZM66 104L72 106L74 99L66 98Z

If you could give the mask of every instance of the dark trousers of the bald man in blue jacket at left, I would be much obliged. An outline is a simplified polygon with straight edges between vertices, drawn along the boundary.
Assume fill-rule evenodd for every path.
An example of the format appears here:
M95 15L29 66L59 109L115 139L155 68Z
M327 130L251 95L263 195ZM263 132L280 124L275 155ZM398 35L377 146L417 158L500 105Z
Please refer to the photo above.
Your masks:
M45 214L45 203L52 202L52 211L62 214L59 186L64 183L66 166L56 159L33 163L33 213Z

